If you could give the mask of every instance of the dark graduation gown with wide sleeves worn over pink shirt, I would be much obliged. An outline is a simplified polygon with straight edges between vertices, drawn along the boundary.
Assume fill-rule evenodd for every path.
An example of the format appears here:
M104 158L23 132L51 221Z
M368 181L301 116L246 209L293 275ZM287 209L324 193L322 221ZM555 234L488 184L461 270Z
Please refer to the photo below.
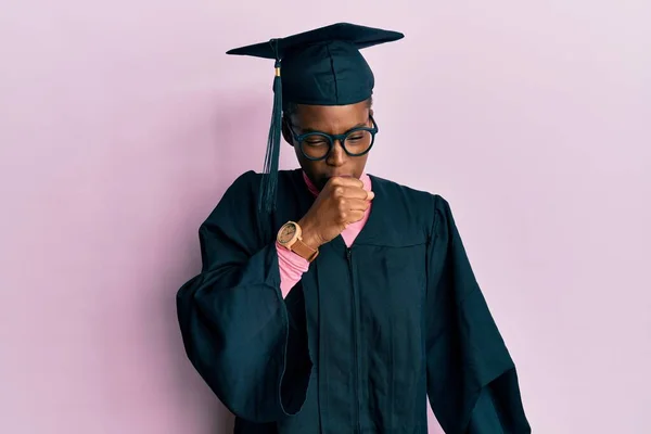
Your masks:
M513 361L448 203L371 176L354 245L321 246L285 299L278 229L314 202L281 170L276 214L260 175L237 179L201 226L202 272L178 292L189 359L240 434L529 433Z

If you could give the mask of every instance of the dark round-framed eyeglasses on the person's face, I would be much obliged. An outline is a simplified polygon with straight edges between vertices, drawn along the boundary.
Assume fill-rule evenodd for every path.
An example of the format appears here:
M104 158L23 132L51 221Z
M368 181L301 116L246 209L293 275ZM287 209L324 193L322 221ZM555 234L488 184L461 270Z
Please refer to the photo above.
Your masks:
M349 156L361 156L368 153L373 143L375 142L375 135L378 133L378 124L373 116L369 115L372 128L369 127L357 127L353 128L343 135L329 135L320 131L310 131L304 135L297 135L294 132L292 124L286 119L290 131L294 140L298 143L301 152L307 159L318 162L326 159L332 148L334 146L335 140L339 140L342 148Z

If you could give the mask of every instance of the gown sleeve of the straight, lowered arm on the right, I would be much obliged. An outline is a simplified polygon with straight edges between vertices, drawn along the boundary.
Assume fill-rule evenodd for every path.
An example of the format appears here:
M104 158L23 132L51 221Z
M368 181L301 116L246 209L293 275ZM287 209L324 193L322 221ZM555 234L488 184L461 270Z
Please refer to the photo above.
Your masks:
M531 433L518 374L449 204L435 196L427 248L427 395L447 434Z

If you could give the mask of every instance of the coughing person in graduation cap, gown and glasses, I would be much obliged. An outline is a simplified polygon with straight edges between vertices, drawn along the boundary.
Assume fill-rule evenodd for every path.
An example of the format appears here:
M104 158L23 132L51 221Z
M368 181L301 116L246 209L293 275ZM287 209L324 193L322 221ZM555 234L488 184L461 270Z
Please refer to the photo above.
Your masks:
M337 24L229 52L276 60L266 169L202 225L177 302L237 433L426 433L427 397L448 434L531 432L448 203L365 171L359 50L400 38ZM281 133L299 170L277 170Z

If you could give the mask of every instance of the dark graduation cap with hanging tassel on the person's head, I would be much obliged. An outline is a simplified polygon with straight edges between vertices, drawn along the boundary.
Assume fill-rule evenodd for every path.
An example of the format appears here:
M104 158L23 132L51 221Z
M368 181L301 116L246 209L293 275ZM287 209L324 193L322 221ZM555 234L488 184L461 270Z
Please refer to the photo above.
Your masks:
M374 77L359 50L401 38L397 31L339 23L227 52L276 61L260 209L272 212L276 206L282 111L288 103L348 105L366 101L373 93Z

